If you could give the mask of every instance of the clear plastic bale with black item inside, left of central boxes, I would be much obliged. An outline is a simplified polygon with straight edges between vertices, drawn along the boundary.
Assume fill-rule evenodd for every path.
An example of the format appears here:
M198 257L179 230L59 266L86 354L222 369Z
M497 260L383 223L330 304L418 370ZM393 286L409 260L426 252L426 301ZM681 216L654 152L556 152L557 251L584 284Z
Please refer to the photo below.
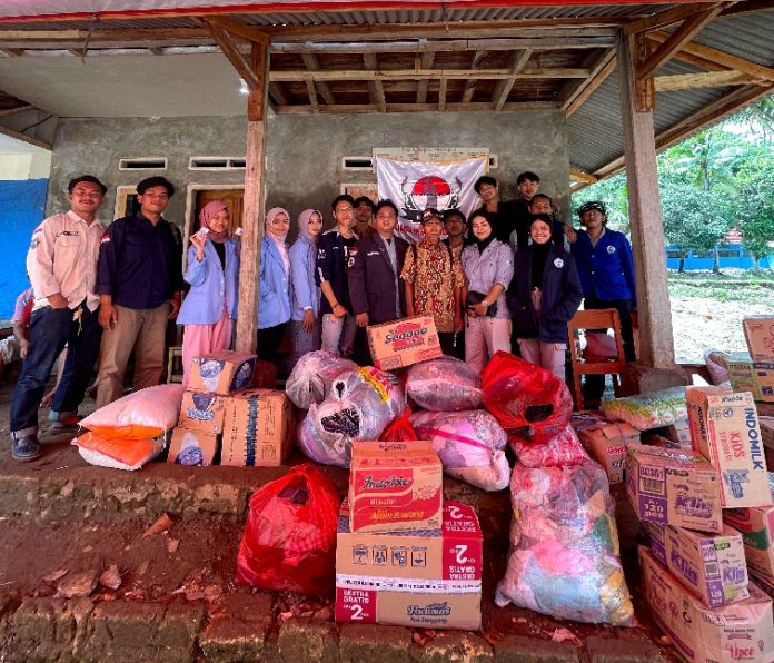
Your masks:
M336 378L325 400L309 408L307 420L348 463L353 439L379 439L405 408L406 394L398 378L366 366Z

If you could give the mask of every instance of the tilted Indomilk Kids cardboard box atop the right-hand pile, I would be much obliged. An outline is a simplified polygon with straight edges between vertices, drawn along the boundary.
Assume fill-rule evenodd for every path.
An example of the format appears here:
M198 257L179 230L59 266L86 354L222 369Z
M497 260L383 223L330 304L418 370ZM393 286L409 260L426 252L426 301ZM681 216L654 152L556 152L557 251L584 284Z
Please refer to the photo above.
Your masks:
M753 395L725 387L688 387L685 392L694 449L721 478L721 505L767 506L768 473Z

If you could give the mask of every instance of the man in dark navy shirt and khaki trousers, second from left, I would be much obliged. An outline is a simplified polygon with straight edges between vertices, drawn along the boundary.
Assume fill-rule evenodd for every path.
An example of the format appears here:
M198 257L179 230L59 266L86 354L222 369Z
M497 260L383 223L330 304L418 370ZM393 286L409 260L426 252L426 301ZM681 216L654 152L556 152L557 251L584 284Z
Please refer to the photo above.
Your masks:
M102 236L97 271L102 326L97 405L116 400L135 350L133 388L158 385L163 369L167 321L180 309L182 239L161 214L175 194L163 177L137 185L140 210L117 219Z

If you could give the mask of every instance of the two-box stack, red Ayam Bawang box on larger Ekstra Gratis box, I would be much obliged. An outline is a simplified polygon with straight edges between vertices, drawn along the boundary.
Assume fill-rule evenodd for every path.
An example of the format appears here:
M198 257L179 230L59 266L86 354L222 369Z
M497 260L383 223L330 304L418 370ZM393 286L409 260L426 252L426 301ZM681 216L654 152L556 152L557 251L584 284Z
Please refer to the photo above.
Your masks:
M336 620L480 627L482 533L474 509L443 504L427 442L355 442L336 545Z

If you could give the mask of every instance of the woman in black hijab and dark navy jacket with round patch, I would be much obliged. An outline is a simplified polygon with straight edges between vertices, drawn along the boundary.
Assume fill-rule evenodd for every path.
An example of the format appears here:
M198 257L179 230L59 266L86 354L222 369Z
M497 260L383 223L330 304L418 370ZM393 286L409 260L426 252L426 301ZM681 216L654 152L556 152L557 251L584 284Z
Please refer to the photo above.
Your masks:
M522 357L566 379L567 323L583 290L575 260L554 243L552 228L547 214L533 216L532 243L516 251L507 300Z

